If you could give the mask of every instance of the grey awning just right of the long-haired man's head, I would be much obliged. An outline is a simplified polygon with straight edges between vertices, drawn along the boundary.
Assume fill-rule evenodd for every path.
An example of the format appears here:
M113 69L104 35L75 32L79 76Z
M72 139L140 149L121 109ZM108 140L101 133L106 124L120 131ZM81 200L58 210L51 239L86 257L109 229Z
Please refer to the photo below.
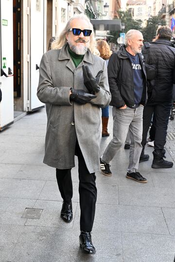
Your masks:
M90 19L94 30L105 30L105 31L121 31L121 19L113 20L100 20L100 19Z

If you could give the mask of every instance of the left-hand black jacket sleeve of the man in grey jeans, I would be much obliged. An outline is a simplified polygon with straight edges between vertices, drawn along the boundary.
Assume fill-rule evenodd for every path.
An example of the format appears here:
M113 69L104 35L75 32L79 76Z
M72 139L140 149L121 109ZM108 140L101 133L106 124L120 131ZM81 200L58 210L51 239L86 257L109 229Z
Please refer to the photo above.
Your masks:
M125 105L125 102L121 96L117 79L120 73L120 61L116 53L113 53L109 58L107 66L109 89L111 92L111 105L120 108Z

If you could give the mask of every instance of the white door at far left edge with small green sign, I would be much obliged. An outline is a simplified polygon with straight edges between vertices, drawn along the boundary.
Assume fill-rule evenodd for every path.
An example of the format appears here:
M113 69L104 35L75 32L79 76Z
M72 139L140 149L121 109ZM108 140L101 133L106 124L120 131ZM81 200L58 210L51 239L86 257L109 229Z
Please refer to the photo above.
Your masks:
M0 0L0 131L14 122L13 0Z

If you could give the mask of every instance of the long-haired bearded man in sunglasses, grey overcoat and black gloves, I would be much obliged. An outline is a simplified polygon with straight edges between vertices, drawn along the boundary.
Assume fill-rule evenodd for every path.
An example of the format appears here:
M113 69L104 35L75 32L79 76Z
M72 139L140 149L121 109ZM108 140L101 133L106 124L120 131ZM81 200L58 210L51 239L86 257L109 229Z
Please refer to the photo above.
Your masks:
M78 157L80 196L80 247L94 254L91 230L95 215L99 170L101 107L111 99L105 61L94 55L92 24L81 14L70 18L52 50L39 66L38 98L47 103L48 124L44 163L56 168L56 179L63 198L61 218L71 222L71 168Z

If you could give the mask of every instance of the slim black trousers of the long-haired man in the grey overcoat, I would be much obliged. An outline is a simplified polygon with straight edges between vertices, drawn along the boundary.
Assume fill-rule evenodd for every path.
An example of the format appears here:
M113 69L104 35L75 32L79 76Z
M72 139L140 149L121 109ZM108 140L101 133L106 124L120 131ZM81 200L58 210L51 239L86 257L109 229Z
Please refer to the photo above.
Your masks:
M79 197L80 197L80 230L91 231L95 216L95 203L97 188L95 173L89 173L78 142L76 142L75 155L78 157ZM73 195L71 168L57 169L56 179L63 201L70 202Z

